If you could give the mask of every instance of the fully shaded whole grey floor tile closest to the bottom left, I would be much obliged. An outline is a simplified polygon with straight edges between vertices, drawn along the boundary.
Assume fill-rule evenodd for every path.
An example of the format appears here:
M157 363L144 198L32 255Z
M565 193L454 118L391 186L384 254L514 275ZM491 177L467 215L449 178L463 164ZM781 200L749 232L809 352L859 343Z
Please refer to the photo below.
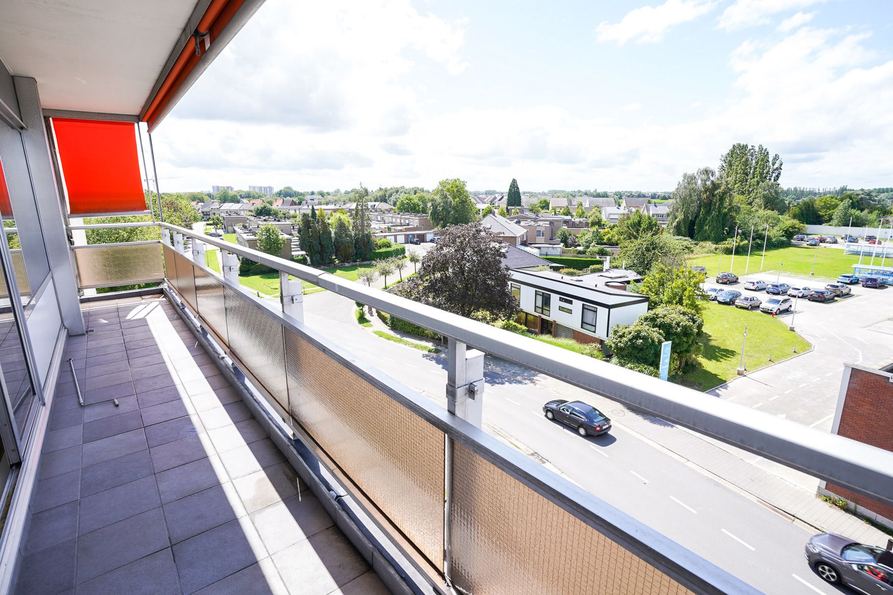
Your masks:
M78 538L77 583L102 576L169 545L161 508L81 535Z

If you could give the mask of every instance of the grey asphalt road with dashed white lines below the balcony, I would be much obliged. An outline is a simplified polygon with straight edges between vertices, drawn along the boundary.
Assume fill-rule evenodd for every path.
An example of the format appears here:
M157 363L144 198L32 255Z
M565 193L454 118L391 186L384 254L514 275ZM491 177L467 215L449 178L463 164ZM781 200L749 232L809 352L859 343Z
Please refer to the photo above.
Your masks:
M305 321L443 404L443 354L422 353L372 335L355 323L354 308L354 302L335 293L314 293L305 297ZM640 438L623 426L623 413L614 412L621 409L618 404L498 359L488 358L486 370L485 426L498 426L598 498L766 593L839 591L805 563L810 531ZM584 439L548 421L541 407L559 397L585 399L608 412L612 433Z

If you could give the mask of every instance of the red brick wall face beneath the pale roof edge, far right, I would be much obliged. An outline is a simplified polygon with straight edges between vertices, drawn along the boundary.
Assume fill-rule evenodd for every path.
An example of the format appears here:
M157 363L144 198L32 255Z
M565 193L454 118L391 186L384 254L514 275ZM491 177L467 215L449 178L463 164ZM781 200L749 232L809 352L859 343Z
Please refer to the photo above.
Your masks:
M889 410L893 406L893 383L887 376L851 368L847 384L847 400L840 412L838 434L893 451L893 424ZM840 498L855 502L893 520L893 507L865 498L846 488L828 483L825 489Z

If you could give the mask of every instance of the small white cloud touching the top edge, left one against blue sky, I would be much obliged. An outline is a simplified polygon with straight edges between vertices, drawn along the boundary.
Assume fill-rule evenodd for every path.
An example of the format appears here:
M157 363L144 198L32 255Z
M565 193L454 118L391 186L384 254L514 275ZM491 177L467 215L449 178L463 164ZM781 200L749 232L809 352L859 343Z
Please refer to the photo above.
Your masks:
M630 39L639 44L654 44L663 39L667 29L697 17L714 8L711 0L666 0L657 6L642 6L630 11L620 22L599 23L598 41L615 41L623 45Z

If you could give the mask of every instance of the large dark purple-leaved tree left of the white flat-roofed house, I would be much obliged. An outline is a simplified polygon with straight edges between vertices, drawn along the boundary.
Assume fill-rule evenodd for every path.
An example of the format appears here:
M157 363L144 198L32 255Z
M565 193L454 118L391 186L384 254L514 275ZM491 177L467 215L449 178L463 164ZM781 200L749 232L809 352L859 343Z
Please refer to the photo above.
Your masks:
M447 227L418 274L397 285L395 293L464 317L512 318L518 302L502 260L504 244L480 222Z

